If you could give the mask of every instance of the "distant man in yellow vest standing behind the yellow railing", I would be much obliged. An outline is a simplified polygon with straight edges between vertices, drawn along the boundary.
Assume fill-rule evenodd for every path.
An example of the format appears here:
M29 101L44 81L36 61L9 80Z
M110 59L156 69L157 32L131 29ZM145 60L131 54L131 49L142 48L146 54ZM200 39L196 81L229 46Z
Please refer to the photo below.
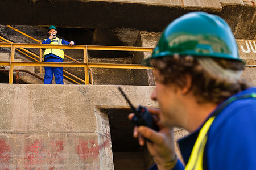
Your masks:
M56 45L75 45L74 41L65 41L56 37L57 28L51 25L48 29L49 38L45 39L42 44L56 44ZM64 49L46 49L44 51L44 62L63 62ZM44 84L52 84L53 74L55 76L56 84L63 83L63 67L44 67Z

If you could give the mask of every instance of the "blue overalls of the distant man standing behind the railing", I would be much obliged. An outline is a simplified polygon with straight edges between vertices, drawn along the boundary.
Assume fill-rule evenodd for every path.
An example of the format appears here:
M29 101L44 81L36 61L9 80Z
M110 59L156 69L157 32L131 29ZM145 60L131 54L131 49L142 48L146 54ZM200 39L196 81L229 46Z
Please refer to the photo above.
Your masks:
M51 39L46 39L42 42L42 44L50 44ZM69 42L62 39L62 44L68 45ZM54 54L48 54L44 56L44 62L63 62L63 59ZM56 84L64 84L63 83L63 67L44 67L44 84L52 84L53 74L55 76Z

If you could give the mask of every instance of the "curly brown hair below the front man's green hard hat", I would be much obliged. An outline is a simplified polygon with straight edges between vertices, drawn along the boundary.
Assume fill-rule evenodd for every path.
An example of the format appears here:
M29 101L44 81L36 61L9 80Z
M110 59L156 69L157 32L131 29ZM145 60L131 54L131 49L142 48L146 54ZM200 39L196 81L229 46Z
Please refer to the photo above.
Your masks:
M238 80L221 79L203 69L193 56L166 56L151 60L151 65L163 75L163 84L173 84L176 88L185 86L186 74L191 75L191 91L199 103L221 103L230 96L250 87L242 78ZM243 70L241 61L231 59L212 58L224 69Z

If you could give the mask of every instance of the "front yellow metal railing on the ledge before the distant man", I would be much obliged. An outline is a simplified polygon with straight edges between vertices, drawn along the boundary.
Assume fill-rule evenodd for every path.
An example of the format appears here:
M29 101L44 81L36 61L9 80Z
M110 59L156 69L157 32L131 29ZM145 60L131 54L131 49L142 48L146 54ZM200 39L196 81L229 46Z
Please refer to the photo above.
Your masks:
M151 52L153 48L126 47L126 46L95 46L95 45L48 45L48 44L24 44L24 43L1 43L0 47L11 48L10 61L0 61L1 66L10 66L9 83L13 83L14 66L51 66L51 67L84 67L85 84L89 84L90 68L112 68L112 69L152 69L139 64L113 64L113 63L89 63L88 50L114 50L114 51L132 51L132 52ZM55 48L55 49L78 49L84 51L84 63L56 63L56 62L18 62L14 61L16 48ZM41 61L41 60L40 60ZM92 78L92 77L91 77Z

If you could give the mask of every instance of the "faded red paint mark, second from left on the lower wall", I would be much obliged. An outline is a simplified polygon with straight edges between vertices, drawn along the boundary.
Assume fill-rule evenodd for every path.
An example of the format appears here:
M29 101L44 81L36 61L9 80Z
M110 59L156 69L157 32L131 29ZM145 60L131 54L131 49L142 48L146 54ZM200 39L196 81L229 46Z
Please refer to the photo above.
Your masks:
M33 143L29 143L25 148L26 169L34 169L35 165L43 163L43 159L46 158L46 151L41 141L36 140Z

